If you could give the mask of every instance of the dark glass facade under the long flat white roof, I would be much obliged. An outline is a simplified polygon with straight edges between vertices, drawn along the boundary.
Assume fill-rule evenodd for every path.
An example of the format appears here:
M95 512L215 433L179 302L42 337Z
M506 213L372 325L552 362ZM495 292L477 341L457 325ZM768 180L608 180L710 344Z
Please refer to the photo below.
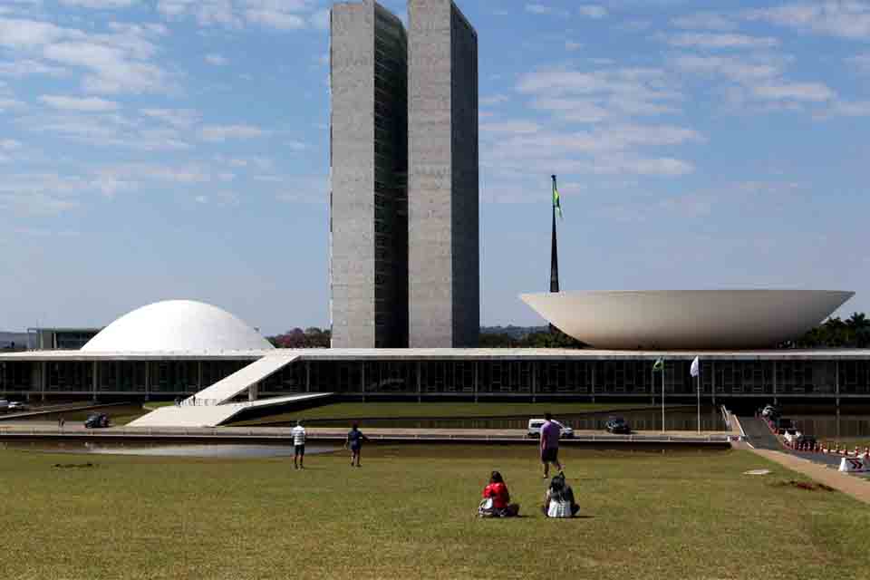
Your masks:
M190 395L244 368L253 360L0 362L4 393ZM665 362L668 396L695 395L691 361ZM94 373L96 372L96 375ZM95 380L96 377L96 380ZM147 386L146 386L147 385ZM263 396L297 392L465 397L652 397L662 374L652 360L541 360L527 357L402 360L298 360L259 385ZM721 359L701 362L704 397L870 398L866 360Z

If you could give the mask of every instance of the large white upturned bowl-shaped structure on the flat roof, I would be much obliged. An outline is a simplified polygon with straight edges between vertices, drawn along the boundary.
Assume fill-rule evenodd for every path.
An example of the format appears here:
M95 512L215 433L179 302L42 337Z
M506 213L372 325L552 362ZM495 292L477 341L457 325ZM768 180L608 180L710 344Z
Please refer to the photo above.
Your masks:
M520 295L550 324L595 348L772 348L854 296L827 290L650 290Z

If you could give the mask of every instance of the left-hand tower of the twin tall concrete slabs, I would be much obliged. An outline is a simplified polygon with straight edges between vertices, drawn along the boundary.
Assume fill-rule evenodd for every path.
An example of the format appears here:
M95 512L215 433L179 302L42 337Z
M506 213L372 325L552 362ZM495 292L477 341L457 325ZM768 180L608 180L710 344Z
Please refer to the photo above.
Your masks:
M408 345L408 41L372 0L333 6L333 347Z

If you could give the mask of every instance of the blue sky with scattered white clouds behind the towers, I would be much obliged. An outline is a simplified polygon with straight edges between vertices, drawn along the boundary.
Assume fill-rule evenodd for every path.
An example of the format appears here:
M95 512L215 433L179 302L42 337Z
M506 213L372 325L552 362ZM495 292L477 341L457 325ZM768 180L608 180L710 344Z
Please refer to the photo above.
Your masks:
M0 328L204 300L328 324L323 0L0 2ZM404 3L382 3L404 15ZM461 0L478 31L481 322L565 289L855 290L870 3Z

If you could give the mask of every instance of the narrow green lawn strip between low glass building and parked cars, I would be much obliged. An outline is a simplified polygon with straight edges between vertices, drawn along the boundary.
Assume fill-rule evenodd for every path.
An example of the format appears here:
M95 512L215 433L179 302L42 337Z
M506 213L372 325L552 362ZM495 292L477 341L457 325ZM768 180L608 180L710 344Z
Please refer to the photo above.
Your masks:
M572 415L587 412L622 411L645 409L651 405L641 402L339 402L303 411L289 411L263 419L239 421L237 425L266 425L284 423L297 419L305 420L354 420L354 419L430 419L510 417L527 415L543 417L546 411L554 415Z

